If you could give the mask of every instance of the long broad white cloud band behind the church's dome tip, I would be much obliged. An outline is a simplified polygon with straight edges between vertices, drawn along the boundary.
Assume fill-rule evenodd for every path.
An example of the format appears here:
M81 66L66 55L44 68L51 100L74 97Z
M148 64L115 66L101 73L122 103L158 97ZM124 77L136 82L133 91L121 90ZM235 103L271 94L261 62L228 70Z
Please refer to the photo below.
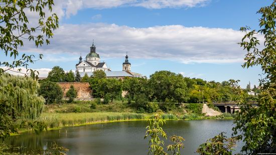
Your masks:
M182 63L242 62L245 52L237 44L243 33L232 29L184 27L181 25L131 28L115 24L61 25L51 44L34 48L26 42L23 52L72 54L83 57L94 39L97 53L104 58L163 59ZM71 58L69 58L71 60ZM58 58L66 60L66 58ZM58 61L50 60L49 61ZM76 59L78 61L78 59Z

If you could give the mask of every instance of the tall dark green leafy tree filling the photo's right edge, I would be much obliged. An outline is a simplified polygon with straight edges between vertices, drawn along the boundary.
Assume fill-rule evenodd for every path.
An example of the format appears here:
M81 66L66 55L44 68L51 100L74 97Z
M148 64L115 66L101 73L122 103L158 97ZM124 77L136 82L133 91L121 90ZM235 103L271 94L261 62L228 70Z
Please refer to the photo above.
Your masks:
M235 117L234 134L243 139L242 151L248 153L276 152L276 1L270 6L260 8L261 14L258 31L249 31L249 27L240 30L245 32L240 46L247 51L243 68L261 66L265 75L260 79L261 94L257 107L246 104L241 91L240 103L243 104ZM249 32L248 32L249 31ZM259 40L256 34L264 36L264 48L258 49ZM241 131L241 133L238 133Z

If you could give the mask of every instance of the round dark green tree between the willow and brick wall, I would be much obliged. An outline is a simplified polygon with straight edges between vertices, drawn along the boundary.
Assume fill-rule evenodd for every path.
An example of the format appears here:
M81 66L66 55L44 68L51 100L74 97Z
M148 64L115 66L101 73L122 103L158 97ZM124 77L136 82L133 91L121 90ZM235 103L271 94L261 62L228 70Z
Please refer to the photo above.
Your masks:
M57 83L46 81L40 84L39 95L45 98L47 105L60 103L63 97L63 91Z

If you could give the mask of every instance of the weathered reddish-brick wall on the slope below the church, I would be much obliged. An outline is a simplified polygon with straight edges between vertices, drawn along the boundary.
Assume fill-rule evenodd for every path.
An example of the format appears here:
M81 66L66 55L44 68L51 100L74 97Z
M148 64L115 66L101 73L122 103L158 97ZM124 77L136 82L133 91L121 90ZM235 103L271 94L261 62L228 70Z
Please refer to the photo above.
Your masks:
M63 90L63 97L66 96L70 86L73 85L77 90L77 98L93 98L92 90L89 87L88 82L59 82L58 83Z

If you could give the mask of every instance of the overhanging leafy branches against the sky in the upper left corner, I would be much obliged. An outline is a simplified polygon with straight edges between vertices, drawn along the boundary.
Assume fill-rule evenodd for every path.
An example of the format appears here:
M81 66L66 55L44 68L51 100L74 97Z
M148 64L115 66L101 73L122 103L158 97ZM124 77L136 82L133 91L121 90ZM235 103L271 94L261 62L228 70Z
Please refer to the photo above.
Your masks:
M48 38L52 38L53 30L58 28L58 17L56 14L46 17L45 12L47 10L51 12L53 5L53 0L1 1L0 48L6 56L14 57L14 61L12 63L1 62L0 65L6 66L7 69L0 68L0 74L20 66L28 68L28 63L36 61L34 55L20 55L18 52L18 48L24 45L24 40L34 42L36 47L42 46L45 42L47 45L50 43ZM29 23L28 12L38 15L37 26L34 26L34 23ZM47 37L46 40L45 37ZM39 59L42 59L42 54ZM34 72L29 69L28 71Z

